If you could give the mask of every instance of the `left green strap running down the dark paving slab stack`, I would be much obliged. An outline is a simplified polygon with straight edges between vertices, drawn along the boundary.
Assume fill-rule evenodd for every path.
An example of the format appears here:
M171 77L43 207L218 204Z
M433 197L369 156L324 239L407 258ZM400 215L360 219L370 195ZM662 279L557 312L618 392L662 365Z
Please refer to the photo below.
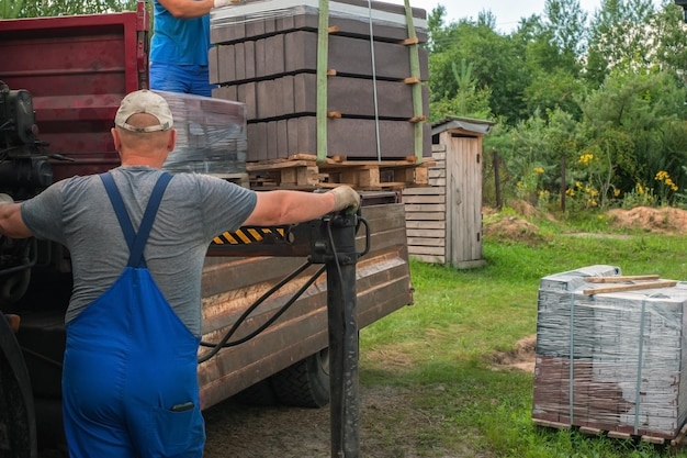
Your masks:
M317 25L317 163L327 160L327 58L329 53L329 0L319 0Z

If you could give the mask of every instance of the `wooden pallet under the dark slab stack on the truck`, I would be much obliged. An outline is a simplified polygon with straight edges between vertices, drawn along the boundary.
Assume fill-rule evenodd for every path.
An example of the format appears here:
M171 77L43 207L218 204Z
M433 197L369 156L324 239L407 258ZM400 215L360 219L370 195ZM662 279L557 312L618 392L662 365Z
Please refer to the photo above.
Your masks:
M313 155L297 154L286 159L246 164L250 186L256 189L335 188L348 185L358 190L376 191L428 186L428 167L432 159L420 164L415 157L395 160L328 157L317 161Z

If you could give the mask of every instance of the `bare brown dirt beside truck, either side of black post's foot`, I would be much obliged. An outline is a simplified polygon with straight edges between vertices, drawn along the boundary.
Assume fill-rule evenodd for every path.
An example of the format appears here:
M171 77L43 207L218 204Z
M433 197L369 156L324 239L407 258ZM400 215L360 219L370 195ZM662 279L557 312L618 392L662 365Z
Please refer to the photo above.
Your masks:
M362 389L360 456L416 458L412 432L427 416L408 409L405 393L396 389ZM257 407L228 401L205 413L205 458L328 458L331 457L329 407ZM393 442L390 443L390 437ZM437 457L455 457L437 450ZM462 457L462 456L461 456ZM466 457L466 456L465 456ZM471 455L471 458L472 455Z

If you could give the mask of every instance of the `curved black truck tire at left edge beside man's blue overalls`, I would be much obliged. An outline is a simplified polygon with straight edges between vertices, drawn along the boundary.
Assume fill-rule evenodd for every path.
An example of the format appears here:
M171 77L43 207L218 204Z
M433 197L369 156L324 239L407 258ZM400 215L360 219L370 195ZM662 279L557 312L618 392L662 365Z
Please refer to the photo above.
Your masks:
M29 372L14 333L0 312L0 458L37 456Z

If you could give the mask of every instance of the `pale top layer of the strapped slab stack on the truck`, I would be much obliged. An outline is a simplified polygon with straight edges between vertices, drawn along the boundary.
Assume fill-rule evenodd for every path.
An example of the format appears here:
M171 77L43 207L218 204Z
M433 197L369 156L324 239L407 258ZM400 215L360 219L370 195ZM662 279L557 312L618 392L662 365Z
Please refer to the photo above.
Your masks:
M359 0L330 2L329 25L334 33L370 37L380 41L404 41L408 37L405 9L394 3ZM427 42L427 13L412 9L415 33L419 43ZM315 0L261 1L215 9L210 16L210 38L213 44L240 42L293 30L317 30L319 4Z

